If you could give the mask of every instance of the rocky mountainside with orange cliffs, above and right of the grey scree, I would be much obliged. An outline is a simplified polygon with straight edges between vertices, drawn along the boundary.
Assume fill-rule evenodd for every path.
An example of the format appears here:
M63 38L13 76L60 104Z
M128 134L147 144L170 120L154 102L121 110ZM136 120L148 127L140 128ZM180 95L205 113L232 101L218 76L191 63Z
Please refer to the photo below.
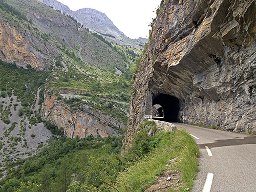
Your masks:
M48 73L43 120L72 138L122 133L135 49L35 0L1 1L0 31L1 60Z

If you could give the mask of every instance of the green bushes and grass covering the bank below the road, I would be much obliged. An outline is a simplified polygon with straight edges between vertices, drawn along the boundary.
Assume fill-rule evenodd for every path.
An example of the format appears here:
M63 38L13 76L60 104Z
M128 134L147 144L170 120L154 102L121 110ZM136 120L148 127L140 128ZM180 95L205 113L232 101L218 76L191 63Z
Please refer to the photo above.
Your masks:
M8 169L0 191L144 191L168 169L181 175L173 191L188 191L198 170L195 141L182 131L147 135L154 126L142 124L124 156L123 137L52 138L35 156L9 164L19 166Z

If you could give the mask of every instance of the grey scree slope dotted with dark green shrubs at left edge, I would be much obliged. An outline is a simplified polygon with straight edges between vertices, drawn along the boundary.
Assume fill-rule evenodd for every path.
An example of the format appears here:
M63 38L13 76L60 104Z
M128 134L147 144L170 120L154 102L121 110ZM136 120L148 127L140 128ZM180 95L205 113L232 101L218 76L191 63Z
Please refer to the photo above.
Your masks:
M38 114L43 101L48 73L33 69L18 69L0 61L0 178L6 167L27 158L46 141L52 133L47 130ZM48 127L49 128L49 127Z

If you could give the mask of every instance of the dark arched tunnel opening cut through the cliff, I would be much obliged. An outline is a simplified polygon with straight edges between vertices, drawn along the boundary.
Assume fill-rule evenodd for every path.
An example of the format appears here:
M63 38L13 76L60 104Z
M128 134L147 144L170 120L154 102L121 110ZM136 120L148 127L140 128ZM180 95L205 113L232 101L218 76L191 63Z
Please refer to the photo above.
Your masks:
M174 96L166 95L166 94L160 94L153 99L152 105L153 105L153 112L154 112L154 108L157 109L158 111L158 117L154 116L153 114L153 119L166 121L166 122L178 121L178 113L180 110L178 98ZM159 117L162 117L162 118L159 118Z

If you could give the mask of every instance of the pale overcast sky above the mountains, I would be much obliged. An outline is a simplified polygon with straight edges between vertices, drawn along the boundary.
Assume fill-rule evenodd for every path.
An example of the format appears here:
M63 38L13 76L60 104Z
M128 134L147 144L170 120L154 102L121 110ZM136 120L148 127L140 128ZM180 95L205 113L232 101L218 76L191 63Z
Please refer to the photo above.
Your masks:
M92 8L103 12L127 37L148 38L150 23L161 0L57 0L76 11ZM153 12L154 11L154 12Z

